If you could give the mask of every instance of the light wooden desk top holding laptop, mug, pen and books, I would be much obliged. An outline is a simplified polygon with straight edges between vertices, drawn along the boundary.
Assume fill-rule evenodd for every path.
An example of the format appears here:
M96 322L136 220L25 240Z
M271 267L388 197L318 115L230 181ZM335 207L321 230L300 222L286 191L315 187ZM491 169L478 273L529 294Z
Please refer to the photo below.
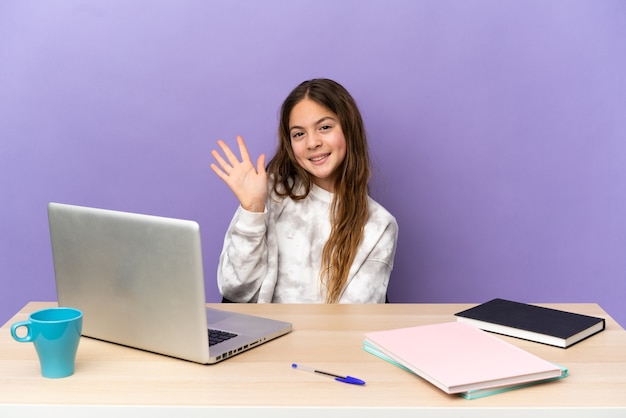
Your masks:
M51 305L31 302L0 328L2 418L626 417L626 331L595 304L549 305L606 318L605 331L571 348L500 337L568 367L567 378L476 400L447 395L361 348L365 332L454 321L454 312L472 305L218 305L290 321L294 331L212 366L82 338L76 373L58 380L42 378L32 344L9 332L11 323ZM299 372L292 362L367 385Z

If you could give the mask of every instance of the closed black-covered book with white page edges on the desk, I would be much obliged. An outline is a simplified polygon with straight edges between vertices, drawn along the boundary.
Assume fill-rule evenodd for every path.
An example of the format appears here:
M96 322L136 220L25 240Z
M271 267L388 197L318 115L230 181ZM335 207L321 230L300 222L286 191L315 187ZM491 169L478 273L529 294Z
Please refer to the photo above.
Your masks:
M457 321L485 331L567 348L605 327L603 318L493 299L457 312Z

